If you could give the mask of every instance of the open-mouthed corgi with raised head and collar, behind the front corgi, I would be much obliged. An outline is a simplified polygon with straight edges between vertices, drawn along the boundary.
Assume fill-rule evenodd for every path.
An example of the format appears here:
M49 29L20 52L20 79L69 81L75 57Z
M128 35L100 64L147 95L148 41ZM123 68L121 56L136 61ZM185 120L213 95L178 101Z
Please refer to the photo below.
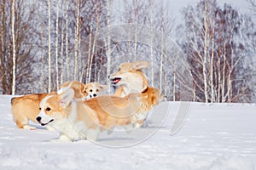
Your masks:
M145 121L148 116L148 111L164 99L164 96L160 93L160 89L149 87L148 79L142 71L142 69L145 68L148 68L147 61L123 63L119 65L118 71L109 76L113 86L119 86L114 95L125 96L131 93L142 94L143 111L139 111L140 114L135 115L135 119L137 120L134 124L135 127L141 127L143 123L147 124Z

